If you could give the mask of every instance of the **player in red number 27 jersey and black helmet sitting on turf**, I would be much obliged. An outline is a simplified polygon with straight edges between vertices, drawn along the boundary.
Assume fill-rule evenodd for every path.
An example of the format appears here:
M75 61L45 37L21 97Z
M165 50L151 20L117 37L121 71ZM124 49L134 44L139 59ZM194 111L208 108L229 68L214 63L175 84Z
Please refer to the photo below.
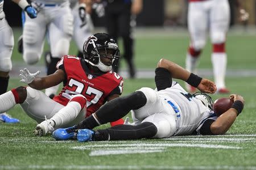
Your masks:
M90 116L123 91L123 78L112 71L117 65L119 49L106 33L96 33L84 43L84 58L64 56L57 63L57 71L38 77L20 70L20 82L29 87L18 87L0 96L0 113L20 104L28 116L39 124L36 135L46 135L54 128L73 126ZM42 91L63 82L58 96L51 100ZM121 124L123 121L121 121Z

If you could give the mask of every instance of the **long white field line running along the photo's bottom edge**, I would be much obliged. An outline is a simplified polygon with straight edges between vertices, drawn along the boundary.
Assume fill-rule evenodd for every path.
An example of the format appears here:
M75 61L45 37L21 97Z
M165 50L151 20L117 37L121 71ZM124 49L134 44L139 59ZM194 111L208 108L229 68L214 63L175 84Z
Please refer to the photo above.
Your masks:
M0 169L247 169L256 170L255 166L156 166L156 165L126 165L126 166L113 166L113 165L0 165Z

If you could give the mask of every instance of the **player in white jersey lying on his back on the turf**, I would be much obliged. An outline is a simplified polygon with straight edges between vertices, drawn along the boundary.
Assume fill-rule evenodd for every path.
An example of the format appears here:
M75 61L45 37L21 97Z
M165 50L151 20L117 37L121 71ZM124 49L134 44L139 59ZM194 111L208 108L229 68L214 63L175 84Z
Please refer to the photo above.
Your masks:
M155 70L158 91L143 87L133 94L118 97L80 124L55 130L53 137L57 140L77 138L79 141L110 141L168 138L174 135L224 134L242 111L243 97L232 95L232 108L217 117L212 111L212 102L208 100L208 95L191 95L179 83L172 81L172 78L184 80L202 92L216 92L212 81L189 73L171 61L161 59ZM117 120L131 110L133 125L89 130Z

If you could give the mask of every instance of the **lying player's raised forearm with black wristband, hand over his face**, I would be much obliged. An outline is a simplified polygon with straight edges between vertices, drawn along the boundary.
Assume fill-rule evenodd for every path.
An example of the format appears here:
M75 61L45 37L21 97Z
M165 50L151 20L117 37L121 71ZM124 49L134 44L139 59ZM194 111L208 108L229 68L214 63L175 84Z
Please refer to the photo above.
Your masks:
M213 94L217 90L214 82L200 78L200 76L190 73L188 70L185 70L183 67L169 61L168 59L160 59L157 67L167 69L172 78L184 80L191 86L197 87L202 92Z

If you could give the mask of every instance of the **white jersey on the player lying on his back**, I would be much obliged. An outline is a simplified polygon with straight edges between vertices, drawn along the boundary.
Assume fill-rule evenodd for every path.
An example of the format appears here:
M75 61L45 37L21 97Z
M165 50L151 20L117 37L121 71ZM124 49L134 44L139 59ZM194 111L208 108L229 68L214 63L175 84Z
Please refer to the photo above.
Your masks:
M170 88L158 91L158 94L176 112L177 131L174 135L192 134L205 118L213 114L201 100L193 97L177 82L173 82Z

